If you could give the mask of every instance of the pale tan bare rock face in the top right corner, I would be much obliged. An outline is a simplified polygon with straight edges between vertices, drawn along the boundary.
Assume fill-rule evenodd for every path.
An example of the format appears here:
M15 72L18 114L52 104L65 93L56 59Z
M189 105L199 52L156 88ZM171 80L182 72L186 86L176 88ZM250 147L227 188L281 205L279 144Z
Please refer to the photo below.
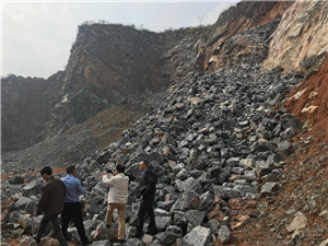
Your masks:
M327 1L295 1L272 34L265 68L318 70L328 50Z

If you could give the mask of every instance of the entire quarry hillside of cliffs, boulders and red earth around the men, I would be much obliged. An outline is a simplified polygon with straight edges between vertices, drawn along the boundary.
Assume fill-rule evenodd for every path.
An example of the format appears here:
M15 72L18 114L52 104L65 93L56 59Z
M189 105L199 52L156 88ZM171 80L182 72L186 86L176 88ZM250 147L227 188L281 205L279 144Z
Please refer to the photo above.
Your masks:
M101 177L122 163L136 178L122 245L328 245L327 13L326 1L242 1L207 27L80 26L56 86L28 79L58 94L36 102L49 105L40 122L27 118L36 131L45 124L43 141L2 155L2 244L35 243L37 169L74 163L87 191L86 234L93 245L109 245ZM24 79L5 83L15 81ZM138 239L141 160L159 176L160 232ZM70 233L77 245L73 226Z

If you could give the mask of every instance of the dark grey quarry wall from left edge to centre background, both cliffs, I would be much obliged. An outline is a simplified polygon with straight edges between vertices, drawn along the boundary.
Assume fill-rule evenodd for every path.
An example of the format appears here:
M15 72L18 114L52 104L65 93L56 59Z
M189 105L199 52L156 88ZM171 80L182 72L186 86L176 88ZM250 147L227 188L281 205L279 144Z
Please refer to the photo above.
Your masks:
M2 151L63 133L109 107L155 107L164 97L161 90L202 67L197 57L201 33L202 28L157 34L122 25L80 26L65 72L48 80L3 79Z

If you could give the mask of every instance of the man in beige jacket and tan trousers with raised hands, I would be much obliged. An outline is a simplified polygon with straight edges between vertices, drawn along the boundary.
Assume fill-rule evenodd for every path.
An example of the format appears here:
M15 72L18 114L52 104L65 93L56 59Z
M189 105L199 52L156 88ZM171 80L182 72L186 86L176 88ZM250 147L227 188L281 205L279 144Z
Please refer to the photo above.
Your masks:
M112 172L114 176L110 178L107 176L108 173L105 171L103 176L103 183L109 186L108 194L108 207L106 213L106 225L109 230L114 209L118 210L118 235L117 239L119 243L125 242L126 237L126 210L128 201L128 187L129 177L125 174L125 166L121 164L116 165L115 172Z

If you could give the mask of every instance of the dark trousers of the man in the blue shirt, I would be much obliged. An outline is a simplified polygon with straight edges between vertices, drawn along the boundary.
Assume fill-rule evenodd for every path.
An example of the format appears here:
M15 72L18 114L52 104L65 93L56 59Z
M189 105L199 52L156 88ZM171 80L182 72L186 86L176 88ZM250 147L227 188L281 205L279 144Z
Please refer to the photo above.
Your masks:
M87 242L87 237L85 236L85 230L83 225L83 214L82 214L82 206L81 202L65 202L63 210L61 212L61 230L63 236L67 238L67 229L70 221L74 222L74 225L78 230L80 239L83 243Z

